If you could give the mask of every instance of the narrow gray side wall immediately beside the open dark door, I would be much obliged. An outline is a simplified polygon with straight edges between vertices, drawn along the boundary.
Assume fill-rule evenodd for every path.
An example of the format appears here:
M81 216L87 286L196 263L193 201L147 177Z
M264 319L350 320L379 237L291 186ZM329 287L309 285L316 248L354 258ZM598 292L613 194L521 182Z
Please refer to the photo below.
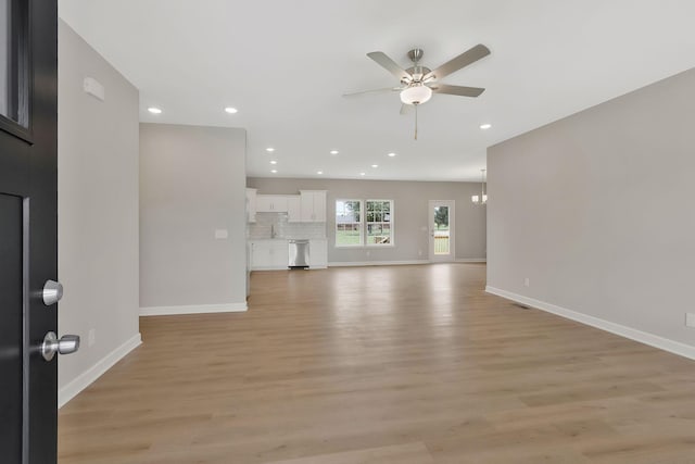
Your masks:
M59 360L63 388L139 340L139 97L62 21L58 39L58 316L61 334L83 336L79 352ZM85 77L105 87L105 101L83 91Z

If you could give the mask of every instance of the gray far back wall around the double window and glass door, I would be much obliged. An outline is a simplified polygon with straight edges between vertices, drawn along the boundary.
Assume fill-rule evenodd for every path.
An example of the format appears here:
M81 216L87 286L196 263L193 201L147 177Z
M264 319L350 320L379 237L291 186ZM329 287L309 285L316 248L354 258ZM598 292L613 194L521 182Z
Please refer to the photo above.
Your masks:
M429 200L456 201L456 258L485 258L485 206L476 206L470 201L471 195L480 192L479 183L292 178L249 178L247 181L249 187L257 188L258 193L296 193L300 189L328 190L326 231L330 263L427 260ZM394 200L395 246L336 248L336 200L341 198Z

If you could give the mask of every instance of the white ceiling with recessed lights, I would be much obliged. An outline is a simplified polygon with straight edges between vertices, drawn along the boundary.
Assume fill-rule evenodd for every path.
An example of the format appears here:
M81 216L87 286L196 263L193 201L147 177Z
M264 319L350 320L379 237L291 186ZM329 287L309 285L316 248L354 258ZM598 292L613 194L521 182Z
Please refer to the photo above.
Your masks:
M695 66L692 0L59 7L140 89L141 121L243 127L248 175L260 177L479 180L486 147ZM419 109L417 141L414 114L399 114L397 92L342 97L397 85L367 52L383 51L407 67L407 51L419 47L422 64L434 68L476 43L492 54L443 81L486 91L477 99L434 95ZM481 130L483 123L492 128Z

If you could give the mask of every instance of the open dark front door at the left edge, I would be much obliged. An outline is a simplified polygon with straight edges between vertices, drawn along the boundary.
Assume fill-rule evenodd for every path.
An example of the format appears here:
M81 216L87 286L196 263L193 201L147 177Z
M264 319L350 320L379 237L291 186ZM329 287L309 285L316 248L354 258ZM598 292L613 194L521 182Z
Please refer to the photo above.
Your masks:
M56 2L0 0L0 462L56 461ZM47 348L56 347L49 343Z

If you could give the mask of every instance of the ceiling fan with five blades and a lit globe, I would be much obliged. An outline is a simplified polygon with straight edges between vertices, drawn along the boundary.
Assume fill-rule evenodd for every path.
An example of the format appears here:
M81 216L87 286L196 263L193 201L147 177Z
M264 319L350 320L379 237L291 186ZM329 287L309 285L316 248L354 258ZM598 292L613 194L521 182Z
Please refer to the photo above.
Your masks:
M488 47L478 43L471 49L463 52L458 57L447 61L435 70L420 65L420 60L425 52L421 49L413 49L408 51L408 58L413 62L413 66L407 70L402 68L399 64L390 59L382 51L372 51L367 57L377 62L381 67L399 78L401 85L399 87L387 87L374 90L364 90L353 93L345 93L343 97L353 97L363 93L399 91L401 92L401 114L405 114L410 106L415 106L415 139L417 140L417 106L426 103L432 98L432 93L447 93L459 97L478 97L485 89L480 87L464 87L441 84L439 80L450 74L466 67L476 61L490 54Z

